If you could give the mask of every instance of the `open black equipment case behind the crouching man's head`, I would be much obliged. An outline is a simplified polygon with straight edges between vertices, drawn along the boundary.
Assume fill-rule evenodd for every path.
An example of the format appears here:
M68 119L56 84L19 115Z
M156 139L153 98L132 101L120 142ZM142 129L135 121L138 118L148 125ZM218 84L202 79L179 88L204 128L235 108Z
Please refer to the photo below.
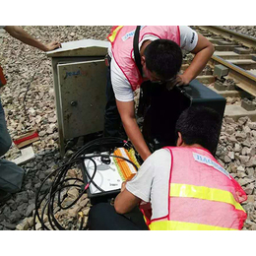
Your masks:
M211 107L223 117L225 102L224 96L218 95L198 80L191 81L186 87L175 87L171 91L164 84L145 82L141 86L137 115L144 119L143 136L154 152L164 146L175 146L175 124L187 107Z

